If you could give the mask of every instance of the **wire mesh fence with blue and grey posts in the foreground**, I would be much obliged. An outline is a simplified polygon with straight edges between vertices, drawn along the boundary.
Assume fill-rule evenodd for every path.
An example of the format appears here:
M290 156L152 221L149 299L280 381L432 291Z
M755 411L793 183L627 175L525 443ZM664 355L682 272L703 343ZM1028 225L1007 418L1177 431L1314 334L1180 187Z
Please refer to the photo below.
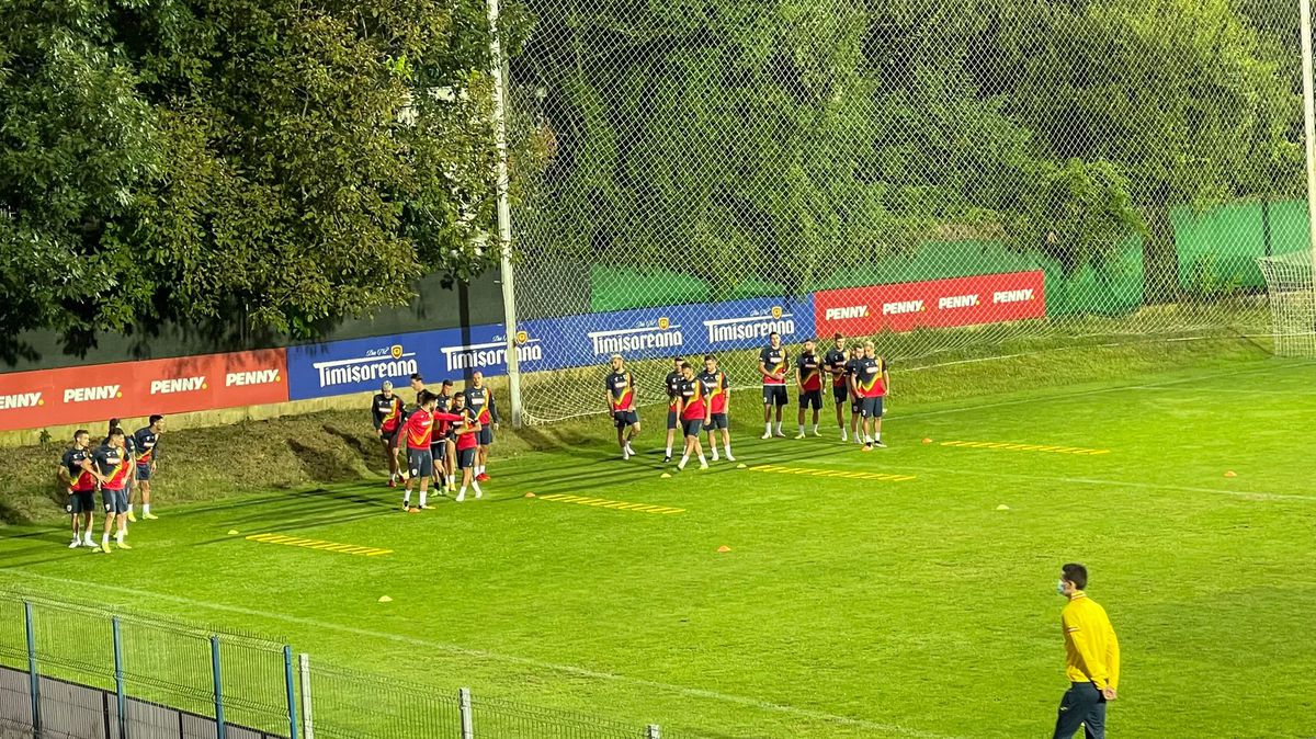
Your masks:
M655 739L658 726L368 675L291 647L0 592L0 739ZM688 738L695 739L695 738Z

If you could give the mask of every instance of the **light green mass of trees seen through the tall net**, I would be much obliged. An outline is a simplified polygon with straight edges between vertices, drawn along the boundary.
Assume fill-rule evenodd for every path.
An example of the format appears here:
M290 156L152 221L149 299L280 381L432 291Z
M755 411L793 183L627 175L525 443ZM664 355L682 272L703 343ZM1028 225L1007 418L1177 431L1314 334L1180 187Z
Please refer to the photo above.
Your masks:
M513 80L559 146L526 216L579 262L799 291L946 225L1066 270L1138 234L1153 302L1170 208L1302 181L1296 13L1267 0L530 5Z

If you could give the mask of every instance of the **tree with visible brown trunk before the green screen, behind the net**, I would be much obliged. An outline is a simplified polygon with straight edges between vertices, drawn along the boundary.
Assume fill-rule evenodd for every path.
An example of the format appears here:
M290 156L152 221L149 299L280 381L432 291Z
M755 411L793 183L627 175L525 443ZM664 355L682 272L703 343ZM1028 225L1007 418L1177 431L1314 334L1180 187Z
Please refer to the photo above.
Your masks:
M1146 234L1144 302L1175 300L1171 208L1283 192L1300 172L1291 85L1228 0L1026 8L1028 24L1000 24L1016 30L975 74L1050 156L1128 178Z

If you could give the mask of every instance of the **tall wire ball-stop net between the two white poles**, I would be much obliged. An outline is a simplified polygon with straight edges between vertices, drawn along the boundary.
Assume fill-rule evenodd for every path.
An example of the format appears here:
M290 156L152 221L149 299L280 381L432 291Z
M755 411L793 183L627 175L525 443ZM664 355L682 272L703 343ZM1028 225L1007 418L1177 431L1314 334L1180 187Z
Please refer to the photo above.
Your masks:
M907 368L1263 333L1257 259L1307 243L1288 0L525 3L517 338L645 402L672 354L757 383L774 330Z

